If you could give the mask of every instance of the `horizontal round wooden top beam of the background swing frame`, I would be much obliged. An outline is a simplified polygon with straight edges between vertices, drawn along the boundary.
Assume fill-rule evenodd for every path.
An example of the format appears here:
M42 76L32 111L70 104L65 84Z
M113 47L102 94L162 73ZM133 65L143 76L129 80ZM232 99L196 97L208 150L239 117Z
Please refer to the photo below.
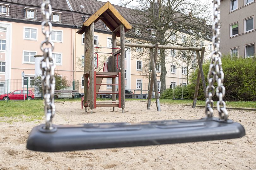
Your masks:
M117 46L120 46L120 43L116 43ZM140 48L155 48L153 44L131 44L125 43L126 47L140 47ZM193 51L201 51L201 47L182 47L182 46L170 46L170 45L159 45L159 49L173 49L173 50L193 50Z

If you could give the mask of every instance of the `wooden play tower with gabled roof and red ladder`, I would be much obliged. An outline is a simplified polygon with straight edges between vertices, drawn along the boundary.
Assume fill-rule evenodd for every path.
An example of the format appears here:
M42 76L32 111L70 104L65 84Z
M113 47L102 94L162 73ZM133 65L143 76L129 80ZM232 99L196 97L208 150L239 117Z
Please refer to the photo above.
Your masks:
M94 24L101 19L104 24L112 31L112 56L108 59L108 64L104 65L103 72L96 72L94 65L94 55L97 56L94 46ZM132 26L124 17L113 7L110 2L105 3L99 10L88 18L82 28L77 32L84 34L84 107L95 109L96 107L115 107L125 108L125 32ZM120 37L120 48L116 47L116 37ZM105 53L108 54L108 53ZM118 77L118 84L115 79ZM102 84L103 78L112 78L112 84ZM101 85L112 86L112 101L96 102L97 94ZM118 86L118 91L116 91ZM101 92L102 93L102 92ZM109 94L109 92L106 92ZM116 94L119 95L116 101Z

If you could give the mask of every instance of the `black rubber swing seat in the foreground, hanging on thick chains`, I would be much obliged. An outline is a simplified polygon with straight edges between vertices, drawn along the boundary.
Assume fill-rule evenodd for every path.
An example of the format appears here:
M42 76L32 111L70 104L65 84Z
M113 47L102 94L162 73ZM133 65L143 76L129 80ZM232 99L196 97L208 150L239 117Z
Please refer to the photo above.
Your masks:
M244 127L232 120L165 120L141 123L97 123L44 125L32 129L27 149L33 151L74 151L86 149L147 146L240 138Z

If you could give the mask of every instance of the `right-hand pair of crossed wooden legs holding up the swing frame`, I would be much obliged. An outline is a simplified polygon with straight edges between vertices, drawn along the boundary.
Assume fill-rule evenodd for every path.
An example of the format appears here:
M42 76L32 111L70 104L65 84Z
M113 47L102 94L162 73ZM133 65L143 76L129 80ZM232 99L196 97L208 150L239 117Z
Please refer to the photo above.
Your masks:
M195 94L194 94L194 100L193 100L192 108L195 108L195 106L196 106L197 95L198 95L198 91L199 91L200 77L202 79L205 99L207 98L206 83L205 83L203 67L202 67L202 64L203 64L203 61L204 61L204 53L205 53L205 47L202 47L201 57L200 57L199 51L196 51L197 61L198 61L198 65L199 65L199 71L198 71L198 74L197 74L197 81L196 81Z

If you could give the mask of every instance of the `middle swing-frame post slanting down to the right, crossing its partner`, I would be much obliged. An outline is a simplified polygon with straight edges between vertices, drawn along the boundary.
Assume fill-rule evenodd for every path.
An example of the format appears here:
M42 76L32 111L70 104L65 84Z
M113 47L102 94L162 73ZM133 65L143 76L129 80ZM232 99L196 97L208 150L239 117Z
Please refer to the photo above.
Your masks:
M153 52L152 48L150 48L149 50L151 50L151 53ZM156 79L156 71L155 71L155 62L154 62L154 58L157 57L157 52L158 52L158 43L155 43L155 51L154 51L154 56L150 55L150 61L151 61L151 70L152 70L152 80L154 83L154 90L155 90L155 101L156 101L156 109L157 111L161 111L160 108L160 101L159 101L159 94L158 94L158 88L157 88L157 79Z

